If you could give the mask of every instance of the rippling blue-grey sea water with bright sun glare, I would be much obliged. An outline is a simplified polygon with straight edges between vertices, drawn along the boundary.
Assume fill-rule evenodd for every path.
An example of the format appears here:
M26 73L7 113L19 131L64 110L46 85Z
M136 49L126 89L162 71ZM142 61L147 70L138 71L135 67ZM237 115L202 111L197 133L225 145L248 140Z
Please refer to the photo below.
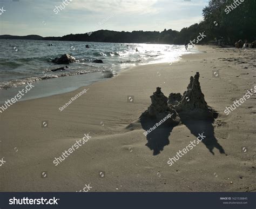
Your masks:
M28 82L95 72L118 73L131 66L173 62L186 51L183 45L126 44L96 42L64 42L0 39L0 89ZM50 44L50 46L49 46ZM85 46L89 45L90 48ZM136 50L137 49L137 50ZM66 70L51 70L65 66L50 61L69 53L76 63ZM102 59L103 63L93 63Z

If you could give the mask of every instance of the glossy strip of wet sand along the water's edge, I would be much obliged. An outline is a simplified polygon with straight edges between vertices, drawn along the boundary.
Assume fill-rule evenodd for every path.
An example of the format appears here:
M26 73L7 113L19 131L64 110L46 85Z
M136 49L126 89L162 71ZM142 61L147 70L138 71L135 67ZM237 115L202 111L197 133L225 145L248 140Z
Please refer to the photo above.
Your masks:
M193 49L191 53L202 53L197 48ZM190 53L189 53L190 54ZM186 54L184 54L186 55ZM182 56L184 56L182 55ZM178 62L182 59L182 56L179 56L177 60L174 62ZM173 62L171 62L173 63ZM24 101L24 100L30 100L30 99L37 99L37 98L44 98L48 96L53 95L59 95L61 93L68 93L71 91L76 91L81 87L89 86L92 83L100 82L105 79L111 79L112 77L118 76L120 73L130 70L133 68L137 68L138 66L143 65L156 65L156 64L167 64L166 62L156 62L156 63L140 63L136 66L127 66L127 68L121 69L118 71L116 75L113 75L112 73L116 73L116 70L114 71L99 71L99 72L91 72L91 73L84 73L80 75L69 75L69 76L60 76L56 78L49 78L49 79L41 79L34 82L28 82L35 85L35 88L32 92L30 92L29 95L26 95L22 97L21 100L18 102ZM83 84L84 82L84 84ZM70 83L73 83L73 85L70 85ZM22 90L26 84L19 85L16 87L8 87L7 89L0 89L0 104L3 104L6 100L10 99L12 96L17 94L19 90ZM49 87L50 86L50 87ZM59 90L59 86L63 89ZM42 92L42 89L45 89L44 92Z

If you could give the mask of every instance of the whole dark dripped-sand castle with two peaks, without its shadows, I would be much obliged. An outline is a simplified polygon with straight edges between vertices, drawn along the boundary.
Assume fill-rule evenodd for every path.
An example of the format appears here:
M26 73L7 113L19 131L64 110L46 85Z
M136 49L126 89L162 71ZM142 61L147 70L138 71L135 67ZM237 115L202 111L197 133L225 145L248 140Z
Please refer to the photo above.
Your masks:
M170 93L169 98L167 98L161 92L161 88L157 87L157 91L150 96L152 104L140 118L161 118L166 114L173 113L172 118L176 119L179 116L191 119L213 119L214 112L205 102L199 76L199 72L197 72L194 77L190 77L190 83L183 96L180 93Z

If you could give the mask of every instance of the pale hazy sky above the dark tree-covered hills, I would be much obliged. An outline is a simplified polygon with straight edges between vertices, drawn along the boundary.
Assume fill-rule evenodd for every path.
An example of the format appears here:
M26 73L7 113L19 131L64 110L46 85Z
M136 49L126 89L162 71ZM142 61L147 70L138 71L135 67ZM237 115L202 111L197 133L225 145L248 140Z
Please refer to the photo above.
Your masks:
M202 21L206 5L208 0L0 0L0 35L180 31Z

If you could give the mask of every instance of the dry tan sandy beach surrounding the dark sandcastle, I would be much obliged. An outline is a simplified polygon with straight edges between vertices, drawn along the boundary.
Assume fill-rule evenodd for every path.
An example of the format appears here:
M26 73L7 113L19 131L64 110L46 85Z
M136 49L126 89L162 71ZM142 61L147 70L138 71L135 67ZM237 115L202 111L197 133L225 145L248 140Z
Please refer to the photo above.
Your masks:
M137 66L76 91L15 103L0 113L0 159L5 160L0 191L75 192L85 184L90 192L255 191L255 93L228 116L224 113L256 85L255 50L197 47L201 53L171 65ZM130 124L147 110L156 87L166 97L182 94L196 72L207 104L219 114L212 127L224 153L199 143L169 166L169 158L197 138L194 128L174 127L170 143L153 155L145 130ZM53 163L83 138L79 149Z

